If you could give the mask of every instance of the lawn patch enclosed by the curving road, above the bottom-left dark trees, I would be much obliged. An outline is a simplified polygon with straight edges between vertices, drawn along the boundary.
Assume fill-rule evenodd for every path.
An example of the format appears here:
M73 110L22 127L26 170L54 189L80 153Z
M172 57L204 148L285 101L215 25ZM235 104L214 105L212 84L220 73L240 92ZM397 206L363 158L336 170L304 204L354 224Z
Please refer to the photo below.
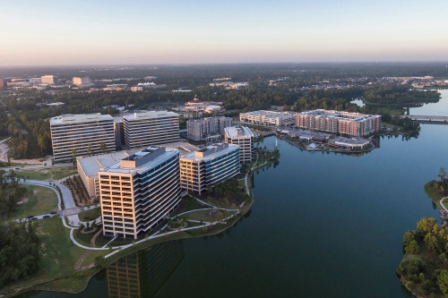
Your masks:
M27 189L26 199L14 211L12 218L24 218L30 215L41 215L57 211L56 192L47 187L37 185L24 185Z

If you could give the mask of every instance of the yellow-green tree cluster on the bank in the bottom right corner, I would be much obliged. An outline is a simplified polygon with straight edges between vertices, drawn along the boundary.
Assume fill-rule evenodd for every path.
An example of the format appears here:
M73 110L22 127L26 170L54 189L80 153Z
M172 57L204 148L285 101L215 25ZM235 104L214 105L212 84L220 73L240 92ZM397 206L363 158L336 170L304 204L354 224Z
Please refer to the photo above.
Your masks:
M397 273L414 294L448 295L448 231L435 218L422 218L403 236L404 258Z

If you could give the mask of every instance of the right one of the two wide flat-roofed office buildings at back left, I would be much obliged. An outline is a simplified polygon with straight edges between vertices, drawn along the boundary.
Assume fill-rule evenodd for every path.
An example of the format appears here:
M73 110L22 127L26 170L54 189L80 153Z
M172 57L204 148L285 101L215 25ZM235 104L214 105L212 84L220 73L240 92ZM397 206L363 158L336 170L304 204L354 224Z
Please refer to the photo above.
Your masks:
M125 147L138 149L179 140L179 115L167 111L141 111L123 116Z

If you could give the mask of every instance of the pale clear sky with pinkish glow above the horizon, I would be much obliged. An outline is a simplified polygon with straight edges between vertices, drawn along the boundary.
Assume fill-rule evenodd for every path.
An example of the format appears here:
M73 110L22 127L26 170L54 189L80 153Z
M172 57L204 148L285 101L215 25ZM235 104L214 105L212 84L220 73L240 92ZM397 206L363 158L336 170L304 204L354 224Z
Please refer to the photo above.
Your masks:
M14 0L0 66L448 61L447 0Z

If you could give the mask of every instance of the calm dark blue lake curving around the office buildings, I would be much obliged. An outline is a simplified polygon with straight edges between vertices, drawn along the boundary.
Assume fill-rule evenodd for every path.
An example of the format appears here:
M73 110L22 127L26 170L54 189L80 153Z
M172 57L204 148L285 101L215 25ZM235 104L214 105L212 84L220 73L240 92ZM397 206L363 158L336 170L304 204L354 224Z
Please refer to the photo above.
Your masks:
M279 166L254 175L250 214L228 231L140 251L82 294L26 296L116 297L133 288L142 297L409 297L395 274L401 239L421 217L437 217L423 185L448 167L448 125L424 124L409 141L384 138L360 157L283 140L279 149Z

